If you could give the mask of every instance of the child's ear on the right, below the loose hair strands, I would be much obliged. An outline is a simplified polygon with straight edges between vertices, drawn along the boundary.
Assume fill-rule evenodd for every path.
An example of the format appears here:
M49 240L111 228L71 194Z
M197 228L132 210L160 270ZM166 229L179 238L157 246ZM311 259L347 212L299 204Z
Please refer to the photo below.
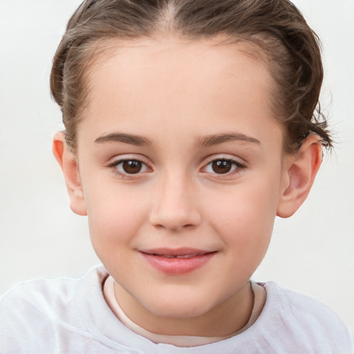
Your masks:
M304 203L322 163L322 144L310 134L295 156L288 156L283 170L277 216L288 218Z

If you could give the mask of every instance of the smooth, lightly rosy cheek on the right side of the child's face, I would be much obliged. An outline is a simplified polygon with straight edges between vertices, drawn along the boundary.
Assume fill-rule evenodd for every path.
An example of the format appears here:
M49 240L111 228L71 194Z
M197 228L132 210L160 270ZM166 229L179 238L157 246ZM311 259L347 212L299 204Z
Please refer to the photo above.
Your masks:
M270 241L277 212L277 178L248 179L218 194L209 208L213 227L238 257L263 254ZM216 201L216 203L215 203Z

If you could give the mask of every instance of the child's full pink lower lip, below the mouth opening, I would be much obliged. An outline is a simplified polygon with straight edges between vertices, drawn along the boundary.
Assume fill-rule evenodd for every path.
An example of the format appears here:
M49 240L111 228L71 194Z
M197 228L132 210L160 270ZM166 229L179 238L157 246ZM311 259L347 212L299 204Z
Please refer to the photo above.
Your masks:
M141 253L157 270L169 275L182 275L203 267L216 252L209 252L191 258L169 258L155 254Z

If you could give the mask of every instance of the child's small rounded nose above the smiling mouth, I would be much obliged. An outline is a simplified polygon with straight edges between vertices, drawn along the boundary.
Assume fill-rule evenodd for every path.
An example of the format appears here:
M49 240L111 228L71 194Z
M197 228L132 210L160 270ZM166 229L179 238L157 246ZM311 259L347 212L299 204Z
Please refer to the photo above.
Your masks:
M178 232L201 223L196 188L187 177L166 176L156 185L149 221L151 225Z

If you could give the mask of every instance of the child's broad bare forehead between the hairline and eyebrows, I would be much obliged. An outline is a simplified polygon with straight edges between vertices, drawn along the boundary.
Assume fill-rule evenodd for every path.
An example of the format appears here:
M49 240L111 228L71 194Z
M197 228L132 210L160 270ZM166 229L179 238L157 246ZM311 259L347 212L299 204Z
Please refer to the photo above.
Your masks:
M250 45L176 37L109 41L88 68L84 120L95 120L101 131L154 124L206 134L221 122L234 130L242 117L248 120L239 120L243 130L277 125L270 109L272 77L254 51L248 55Z

